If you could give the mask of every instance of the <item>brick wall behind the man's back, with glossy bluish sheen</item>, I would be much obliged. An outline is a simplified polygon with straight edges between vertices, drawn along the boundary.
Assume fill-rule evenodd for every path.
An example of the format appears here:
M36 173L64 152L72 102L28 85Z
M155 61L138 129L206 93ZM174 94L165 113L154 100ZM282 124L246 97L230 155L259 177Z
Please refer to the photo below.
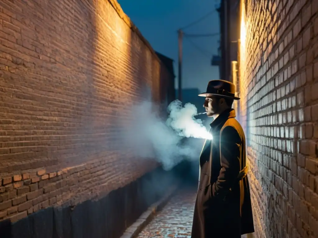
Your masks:
M318 1L247 0L241 118L256 237L318 237Z

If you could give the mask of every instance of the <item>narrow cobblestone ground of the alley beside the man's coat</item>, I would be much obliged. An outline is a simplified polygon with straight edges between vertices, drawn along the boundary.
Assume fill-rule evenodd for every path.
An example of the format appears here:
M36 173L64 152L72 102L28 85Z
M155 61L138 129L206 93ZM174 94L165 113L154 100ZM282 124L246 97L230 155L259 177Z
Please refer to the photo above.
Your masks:
M190 238L196 195L196 188L179 190L138 238Z

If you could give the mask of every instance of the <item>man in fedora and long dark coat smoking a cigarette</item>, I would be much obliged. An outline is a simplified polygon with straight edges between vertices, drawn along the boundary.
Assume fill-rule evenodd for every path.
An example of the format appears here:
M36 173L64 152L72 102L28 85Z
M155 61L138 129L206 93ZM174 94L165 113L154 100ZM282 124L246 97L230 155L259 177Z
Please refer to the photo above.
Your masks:
M224 80L209 82L204 107L212 140L200 155L200 176L191 238L238 238L254 232L249 183L246 176L244 131L232 109L235 86Z

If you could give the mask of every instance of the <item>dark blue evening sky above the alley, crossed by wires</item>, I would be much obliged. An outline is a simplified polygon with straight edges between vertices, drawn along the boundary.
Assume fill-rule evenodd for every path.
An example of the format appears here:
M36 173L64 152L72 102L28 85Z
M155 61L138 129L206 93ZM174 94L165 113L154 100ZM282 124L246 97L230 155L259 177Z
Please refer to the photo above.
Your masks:
M176 88L178 75L177 30L215 10L216 0L118 0L154 50L175 60ZM201 22L184 29L187 34L219 32L215 11ZM219 36L183 40L183 88L205 91L208 81L218 79L218 67L211 66L217 54ZM199 49L198 49L199 48ZM202 52L203 51L203 52Z

